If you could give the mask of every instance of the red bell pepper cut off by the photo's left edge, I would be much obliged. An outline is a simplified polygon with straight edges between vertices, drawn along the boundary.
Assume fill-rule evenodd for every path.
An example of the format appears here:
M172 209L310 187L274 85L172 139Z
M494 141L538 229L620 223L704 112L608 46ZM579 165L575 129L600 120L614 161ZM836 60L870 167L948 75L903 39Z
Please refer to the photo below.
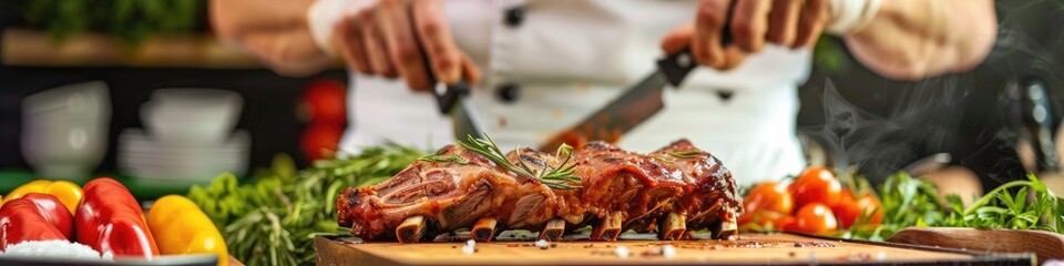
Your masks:
M66 236L41 215L33 202L17 198L3 203L0 207L0 250L28 241L66 241Z

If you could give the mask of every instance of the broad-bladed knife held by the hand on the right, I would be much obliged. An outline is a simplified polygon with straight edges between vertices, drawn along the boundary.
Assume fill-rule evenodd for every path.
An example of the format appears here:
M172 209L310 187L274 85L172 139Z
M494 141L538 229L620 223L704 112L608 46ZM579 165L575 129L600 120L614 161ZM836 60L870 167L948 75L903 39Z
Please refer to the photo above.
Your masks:
M723 45L732 44L728 28L725 25L720 32ZM562 144L580 146L589 141L615 142L625 132L661 111L665 106L662 100L665 88L679 88L684 78L696 66L698 63L692 58L689 48L658 60L656 71L576 125L555 134L540 145L540 151L554 151Z

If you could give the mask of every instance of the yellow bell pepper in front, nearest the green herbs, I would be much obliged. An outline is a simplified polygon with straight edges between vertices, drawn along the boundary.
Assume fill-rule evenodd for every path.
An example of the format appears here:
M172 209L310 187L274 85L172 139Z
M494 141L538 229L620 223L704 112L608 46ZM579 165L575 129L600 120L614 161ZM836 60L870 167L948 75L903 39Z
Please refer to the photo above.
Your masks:
M155 201L147 213L147 227L163 255L213 253L218 255L218 266L229 264L222 233L200 206L184 196Z

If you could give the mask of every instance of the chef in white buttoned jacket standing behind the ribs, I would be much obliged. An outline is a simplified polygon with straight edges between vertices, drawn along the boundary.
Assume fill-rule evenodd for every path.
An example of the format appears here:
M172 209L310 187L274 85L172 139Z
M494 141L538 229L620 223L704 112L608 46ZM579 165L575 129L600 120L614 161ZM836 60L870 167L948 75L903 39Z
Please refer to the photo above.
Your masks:
M743 183L805 166L797 88L825 30L901 80L969 70L996 33L988 0L217 0L212 21L283 74L344 59L354 75L346 152L452 143L449 116L426 92L427 64L442 82L473 82L472 112L501 146L538 146L689 47L706 68L666 90L664 110L618 145L649 152L688 139ZM724 27L734 44L720 45Z

